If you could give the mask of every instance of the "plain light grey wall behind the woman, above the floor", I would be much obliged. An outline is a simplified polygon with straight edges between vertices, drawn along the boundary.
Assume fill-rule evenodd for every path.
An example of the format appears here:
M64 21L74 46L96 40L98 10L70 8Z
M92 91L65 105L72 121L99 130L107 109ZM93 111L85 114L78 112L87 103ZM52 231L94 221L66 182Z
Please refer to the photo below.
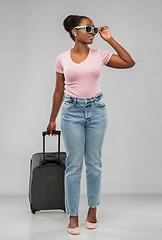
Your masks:
M62 25L69 14L108 25L136 62L131 69L103 66L109 123L102 194L162 193L161 5L160 0L0 1L0 194L28 193L30 159L42 151L41 133L51 113L55 60L74 46ZM99 35L89 46L116 53ZM48 136L47 151L56 150L56 143ZM81 193L86 193L85 164Z

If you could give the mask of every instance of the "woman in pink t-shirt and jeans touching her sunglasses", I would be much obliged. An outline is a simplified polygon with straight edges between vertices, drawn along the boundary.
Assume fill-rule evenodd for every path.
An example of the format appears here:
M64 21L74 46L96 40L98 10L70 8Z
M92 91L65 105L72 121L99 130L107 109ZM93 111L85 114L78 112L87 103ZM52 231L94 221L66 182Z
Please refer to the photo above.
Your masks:
M78 207L83 156L89 210L87 228L97 227L96 211L101 193L101 149L108 123L108 114L100 88L103 65L112 68L131 68L135 62L129 53L111 36L108 26L96 28L86 16L69 15L63 22L75 42L74 48L56 59L56 87L47 130L56 130L56 117L63 101L61 130L66 149L65 208L70 215L68 232L79 234ZM117 54L91 49L95 35L110 44Z

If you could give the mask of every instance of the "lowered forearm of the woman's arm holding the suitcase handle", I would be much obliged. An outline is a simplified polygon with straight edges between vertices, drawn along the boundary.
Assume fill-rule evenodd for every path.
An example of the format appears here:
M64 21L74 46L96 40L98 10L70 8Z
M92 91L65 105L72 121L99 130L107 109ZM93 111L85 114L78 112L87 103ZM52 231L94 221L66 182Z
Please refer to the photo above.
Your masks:
M60 92L54 91L50 122L54 122L56 120L56 117L58 115L58 112L59 112L61 104L62 104L63 95L64 95L63 92L60 93Z

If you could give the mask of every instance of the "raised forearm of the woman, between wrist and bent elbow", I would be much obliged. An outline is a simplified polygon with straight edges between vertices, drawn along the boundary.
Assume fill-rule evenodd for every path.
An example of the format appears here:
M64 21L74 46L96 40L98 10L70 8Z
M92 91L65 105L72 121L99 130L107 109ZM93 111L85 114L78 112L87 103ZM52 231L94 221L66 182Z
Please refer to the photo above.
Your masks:
M118 55L127 63L134 62L130 54L113 37L107 41L118 53Z

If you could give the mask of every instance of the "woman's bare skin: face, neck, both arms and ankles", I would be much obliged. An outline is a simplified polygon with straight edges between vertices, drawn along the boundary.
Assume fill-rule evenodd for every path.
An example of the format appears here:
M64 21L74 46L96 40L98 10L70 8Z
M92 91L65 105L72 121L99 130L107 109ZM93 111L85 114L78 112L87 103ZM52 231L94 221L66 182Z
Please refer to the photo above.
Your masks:
M83 18L79 26L89 25L94 27L94 23L90 18ZM83 62L89 53L88 44L93 43L95 34L93 30L87 33L84 28L72 29L72 34L75 37L75 45L71 50L71 59L75 63ZM111 36L108 26L102 26L99 28L99 34L103 40L110 44L117 54L113 54L106 65L111 68L131 68L135 65L135 62L131 58L130 54ZM64 74L56 72L56 87L53 95L53 107L51 112L50 121L47 130L52 134L52 130L56 130L56 117L62 104L64 95ZM90 208L87 213L87 221L96 223L96 211L97 208ZM78 216L70 216L69 228L78 227Z

